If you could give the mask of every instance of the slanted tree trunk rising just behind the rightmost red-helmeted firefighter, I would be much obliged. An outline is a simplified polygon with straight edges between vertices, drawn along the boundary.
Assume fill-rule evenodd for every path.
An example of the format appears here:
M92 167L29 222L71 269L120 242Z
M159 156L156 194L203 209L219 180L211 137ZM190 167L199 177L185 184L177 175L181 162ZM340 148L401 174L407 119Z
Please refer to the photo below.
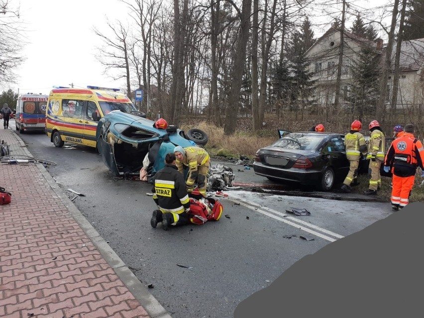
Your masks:
M389 80L389 72L390 72L390 64L392 59L392 48L393 48L393 41L395 40L395 29L396 29L396 20L398 17L398 11L399 11L399 0L395 0L395 4L393 6L393 13L392 13L392 24L390 26L390 32L389 32L389 41L387 43L386 47L386 58L383 65L383 71L381 73L381 91L380 91L380 98L378 99L377 103L377 111L376 113L381 116L381 122L385 121L384 118L384 108L386 104L386 97L387 97L387 82Z

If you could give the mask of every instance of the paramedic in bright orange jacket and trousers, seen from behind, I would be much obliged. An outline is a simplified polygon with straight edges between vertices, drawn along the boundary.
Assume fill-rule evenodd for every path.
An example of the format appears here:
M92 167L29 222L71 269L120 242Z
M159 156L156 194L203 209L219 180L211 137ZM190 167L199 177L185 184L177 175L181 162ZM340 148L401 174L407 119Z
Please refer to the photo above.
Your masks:
M414 186L417 167L424 178L424 149L420 140L414 137L414 125L405 125L404 133L393 140L384 160L384 171L393 173L392 210L398 211L409 203Z

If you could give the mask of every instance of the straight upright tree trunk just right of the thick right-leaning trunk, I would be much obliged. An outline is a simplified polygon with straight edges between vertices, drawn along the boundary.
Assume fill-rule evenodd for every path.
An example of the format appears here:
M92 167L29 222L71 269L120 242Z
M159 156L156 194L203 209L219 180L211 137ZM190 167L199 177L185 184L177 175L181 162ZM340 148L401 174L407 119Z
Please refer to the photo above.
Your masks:
M253 131L261 128L258 98L258 32L259 0L253 0L252 19L252 123Z

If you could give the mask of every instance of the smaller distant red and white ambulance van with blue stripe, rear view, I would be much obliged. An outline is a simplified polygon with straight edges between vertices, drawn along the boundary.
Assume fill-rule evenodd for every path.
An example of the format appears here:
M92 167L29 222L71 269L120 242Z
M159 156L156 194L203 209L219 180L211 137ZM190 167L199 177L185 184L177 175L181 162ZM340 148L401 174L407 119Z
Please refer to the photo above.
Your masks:
M46 107L48 95L21 94L16 103L16 130L24 131L46 130Z

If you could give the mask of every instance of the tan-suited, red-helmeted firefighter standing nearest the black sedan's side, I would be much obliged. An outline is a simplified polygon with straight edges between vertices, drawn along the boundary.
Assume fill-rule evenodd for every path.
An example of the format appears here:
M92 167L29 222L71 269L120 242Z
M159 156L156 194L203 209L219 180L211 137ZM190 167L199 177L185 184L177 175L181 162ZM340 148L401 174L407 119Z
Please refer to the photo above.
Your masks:
M350 192L350 184L358 184L358 166L361 153L367 155L367 145L364 135L359 131L362 129L362 123L359 120L354 120L350 125L350 132L344 136L344 144L346 146L346 157L349 160L350 168L346 178L343 181L341 190Z

